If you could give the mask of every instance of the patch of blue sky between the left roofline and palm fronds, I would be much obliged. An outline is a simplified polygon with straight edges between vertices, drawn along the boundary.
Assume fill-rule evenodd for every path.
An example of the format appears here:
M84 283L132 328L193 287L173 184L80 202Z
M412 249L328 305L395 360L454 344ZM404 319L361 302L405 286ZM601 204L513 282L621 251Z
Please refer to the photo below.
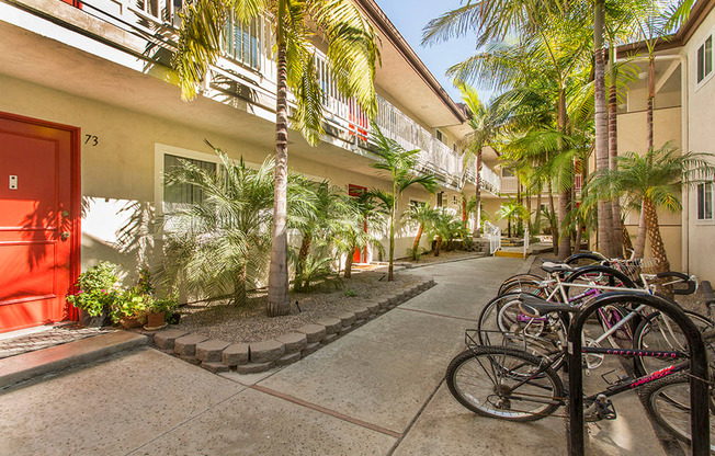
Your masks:
M447 68L458 64L476 52L475 37L452 38L446 43L422 46L422 29L430 20L462 5L461 0L376 0L377 4L407 39L444 90L456 102L462 101L459 91L444 76ZM489 92L477 88L480 99L487 101Z

